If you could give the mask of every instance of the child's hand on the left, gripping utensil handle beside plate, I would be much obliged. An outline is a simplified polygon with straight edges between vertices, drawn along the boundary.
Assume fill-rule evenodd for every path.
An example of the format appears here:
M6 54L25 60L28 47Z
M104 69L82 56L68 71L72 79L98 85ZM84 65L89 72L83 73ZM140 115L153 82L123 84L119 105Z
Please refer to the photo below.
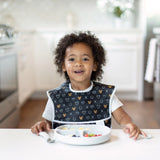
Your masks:
M47 121L37 122L34 126L31 127L32 133L39 135L39 132L50 131L50 124Z

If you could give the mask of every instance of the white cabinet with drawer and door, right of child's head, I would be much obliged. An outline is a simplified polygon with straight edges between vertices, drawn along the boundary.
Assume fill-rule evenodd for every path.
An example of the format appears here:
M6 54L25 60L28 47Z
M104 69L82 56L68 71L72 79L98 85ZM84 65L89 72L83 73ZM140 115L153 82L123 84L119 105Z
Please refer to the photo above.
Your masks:
M125 98L142 99L143 53L140 32L98 34L107 51L102 82L114 84ZM129 97L130 96L130 97Z

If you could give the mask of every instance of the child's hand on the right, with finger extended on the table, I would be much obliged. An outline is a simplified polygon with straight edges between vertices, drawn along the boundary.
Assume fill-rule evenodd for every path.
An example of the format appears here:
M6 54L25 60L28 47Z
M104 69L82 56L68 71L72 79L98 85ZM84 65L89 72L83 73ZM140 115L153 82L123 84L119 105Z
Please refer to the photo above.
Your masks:
M140 134L142 134L144 137L147 137L146 133L140 130L134 123L128 123L124 125L123 130L125 133L129 134L130 138L133 138L134 140L136 140Z

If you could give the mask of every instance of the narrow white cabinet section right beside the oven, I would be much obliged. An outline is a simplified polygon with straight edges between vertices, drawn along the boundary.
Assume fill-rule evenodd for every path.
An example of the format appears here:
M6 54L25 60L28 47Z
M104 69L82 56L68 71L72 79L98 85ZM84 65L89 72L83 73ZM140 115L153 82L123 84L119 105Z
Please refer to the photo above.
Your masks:
M18 36L18 97L21 106L35 91L34 81L34 34L21 33Z

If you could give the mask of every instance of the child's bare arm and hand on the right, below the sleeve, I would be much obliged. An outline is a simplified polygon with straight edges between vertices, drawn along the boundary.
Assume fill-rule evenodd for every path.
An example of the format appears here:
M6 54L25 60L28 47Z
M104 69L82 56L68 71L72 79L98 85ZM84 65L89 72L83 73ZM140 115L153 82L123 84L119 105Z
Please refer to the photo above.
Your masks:
M133 137L136 140L140 134L145 137L147 136L132 122L131 117L123 110L122 107L115 110L112 114L117 123L123 127L124 132L130 135L130 138Z

